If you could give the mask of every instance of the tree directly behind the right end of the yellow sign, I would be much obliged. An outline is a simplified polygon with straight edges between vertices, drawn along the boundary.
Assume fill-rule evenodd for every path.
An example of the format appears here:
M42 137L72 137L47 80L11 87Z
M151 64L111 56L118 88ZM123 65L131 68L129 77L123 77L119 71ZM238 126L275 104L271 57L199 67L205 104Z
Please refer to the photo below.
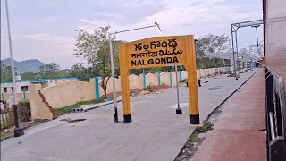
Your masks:
M215 36L208 34L198 38L196 42L197 68L214 68L221 66L223 60L215 58L215 56L228 51L230 48L230 38L225 35Z

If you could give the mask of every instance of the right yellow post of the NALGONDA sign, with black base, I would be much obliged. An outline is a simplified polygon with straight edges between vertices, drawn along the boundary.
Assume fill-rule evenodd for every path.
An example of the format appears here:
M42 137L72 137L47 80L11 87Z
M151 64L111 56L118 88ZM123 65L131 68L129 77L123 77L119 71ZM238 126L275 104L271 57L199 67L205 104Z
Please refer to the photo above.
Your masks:
M188 36L186 40L187 51L187 69L189 84L189 119L191 124L199 124L198 111L198 88L197 88L197 71L196 71L196 55L195 41L193 36Z

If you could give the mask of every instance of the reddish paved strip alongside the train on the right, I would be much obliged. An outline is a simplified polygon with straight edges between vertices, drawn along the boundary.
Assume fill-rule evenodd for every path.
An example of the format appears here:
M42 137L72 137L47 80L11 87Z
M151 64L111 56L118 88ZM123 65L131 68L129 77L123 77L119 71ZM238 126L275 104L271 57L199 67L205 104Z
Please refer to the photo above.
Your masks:
M265 78L260 69L214 114L193 161L265 160Z

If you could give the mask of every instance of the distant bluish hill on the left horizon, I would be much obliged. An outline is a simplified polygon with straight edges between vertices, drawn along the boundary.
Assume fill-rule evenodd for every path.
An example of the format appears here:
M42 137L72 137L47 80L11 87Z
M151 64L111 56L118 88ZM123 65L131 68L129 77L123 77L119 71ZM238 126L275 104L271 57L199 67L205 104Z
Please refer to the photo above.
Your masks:
M2 60L1 64L11 66L11 59L8 58ZM17 72L39 72L39 67L41 65L44 65L44 63L37 59L29 59L21 62L14 60L14 65L16 67Z

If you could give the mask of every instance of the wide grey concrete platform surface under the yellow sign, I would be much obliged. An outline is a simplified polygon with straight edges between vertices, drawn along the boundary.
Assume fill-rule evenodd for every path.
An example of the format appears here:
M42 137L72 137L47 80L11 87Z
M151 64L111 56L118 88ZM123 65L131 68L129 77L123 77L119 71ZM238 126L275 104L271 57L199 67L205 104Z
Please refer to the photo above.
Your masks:
M225 75L209 79L198 89L201 121L238 89L254 72L240 80ZM181 103L189 103L188 88L180 87ZM113 106L64 118L86 118L66 123L61 118L25 131L20 138L1 142L1 160L173 160L195 130L189 107L175 114L176 89L131 98L132 123L114 123ZM122 103L118 104L122 121ZM62 117L62 118L63 118Z

